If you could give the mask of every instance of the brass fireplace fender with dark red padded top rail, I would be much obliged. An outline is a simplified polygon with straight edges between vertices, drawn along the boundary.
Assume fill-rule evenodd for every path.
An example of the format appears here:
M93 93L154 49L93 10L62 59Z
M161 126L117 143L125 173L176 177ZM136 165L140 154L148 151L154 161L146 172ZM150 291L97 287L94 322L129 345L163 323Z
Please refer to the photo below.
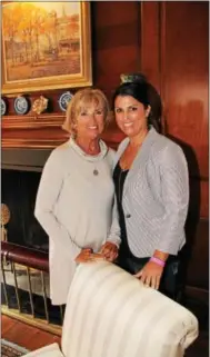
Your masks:
M48 254L2 241L1 270L2 314L61 335L64 306L49 299Z

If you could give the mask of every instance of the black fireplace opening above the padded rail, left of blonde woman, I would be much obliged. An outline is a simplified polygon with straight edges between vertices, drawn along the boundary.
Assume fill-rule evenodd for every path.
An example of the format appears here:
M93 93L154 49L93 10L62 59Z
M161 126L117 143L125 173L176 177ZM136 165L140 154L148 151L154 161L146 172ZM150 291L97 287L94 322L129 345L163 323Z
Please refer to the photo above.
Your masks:
M7 240L48 251L48 236L34 217L34 204L41 172L2 169L1 204L10 212L4 226Z

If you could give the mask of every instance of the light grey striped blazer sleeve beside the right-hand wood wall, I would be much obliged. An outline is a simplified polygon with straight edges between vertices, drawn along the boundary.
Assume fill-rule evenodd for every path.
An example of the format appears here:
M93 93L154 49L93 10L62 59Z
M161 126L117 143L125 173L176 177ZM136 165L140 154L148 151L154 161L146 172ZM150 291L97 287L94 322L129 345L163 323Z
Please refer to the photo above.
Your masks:
M169 146L160 157L161 194L164 218L157 250L177 255L189 206L189 173L180 147Z

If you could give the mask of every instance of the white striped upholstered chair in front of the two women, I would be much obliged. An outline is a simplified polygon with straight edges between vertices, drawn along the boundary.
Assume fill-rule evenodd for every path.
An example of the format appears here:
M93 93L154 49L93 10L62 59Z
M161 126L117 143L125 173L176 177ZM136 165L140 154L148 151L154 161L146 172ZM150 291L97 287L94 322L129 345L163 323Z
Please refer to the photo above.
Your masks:
M58 287L59 288L59 287ZM80 265L67 303L61 347L27 357L181 357L198 320L113 264Z

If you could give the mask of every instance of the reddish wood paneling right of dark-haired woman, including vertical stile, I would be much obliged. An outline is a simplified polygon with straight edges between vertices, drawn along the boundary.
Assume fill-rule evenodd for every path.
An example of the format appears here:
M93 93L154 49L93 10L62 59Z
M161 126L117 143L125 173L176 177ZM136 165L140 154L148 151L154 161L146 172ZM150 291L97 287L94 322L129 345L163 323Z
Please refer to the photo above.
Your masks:
M208 289L209 3L146 2L142 27L142 70L161 93L164 133L182 147L188 160L188 285Z

